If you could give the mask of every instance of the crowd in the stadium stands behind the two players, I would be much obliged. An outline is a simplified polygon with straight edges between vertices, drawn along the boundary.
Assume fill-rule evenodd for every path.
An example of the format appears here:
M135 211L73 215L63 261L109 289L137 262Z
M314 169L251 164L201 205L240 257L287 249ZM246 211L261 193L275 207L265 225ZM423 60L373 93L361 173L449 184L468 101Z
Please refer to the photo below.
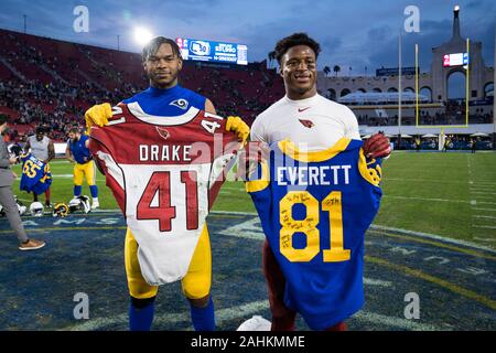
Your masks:
M10 138L22 141L43 126L55 141L84 121L84 113L97 103L119 103L147 87L140 54L61 42L0 30L7 44L0 47L0 113L10 116ZM266 62L248 66L208 66L184 62L180 84L211 97L220 116L241 116L249 125L284 95L282 81ZM398 115L356 113L359 125L396 126ZM476 109L470 124L492 122L493 111ZM464 124L464 106L449 103L443 113L420 111L421 125ZM406 115L402 125L416 125Z

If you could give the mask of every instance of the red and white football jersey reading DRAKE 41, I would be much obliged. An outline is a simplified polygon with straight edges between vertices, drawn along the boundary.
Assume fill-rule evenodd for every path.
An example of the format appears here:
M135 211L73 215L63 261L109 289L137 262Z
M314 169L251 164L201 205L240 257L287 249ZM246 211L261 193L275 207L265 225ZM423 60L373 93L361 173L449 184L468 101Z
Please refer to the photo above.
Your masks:
M241 145L226 120L196 108L182 116L119 104L89 149L139 244L150 285L184 277L224 172Z

